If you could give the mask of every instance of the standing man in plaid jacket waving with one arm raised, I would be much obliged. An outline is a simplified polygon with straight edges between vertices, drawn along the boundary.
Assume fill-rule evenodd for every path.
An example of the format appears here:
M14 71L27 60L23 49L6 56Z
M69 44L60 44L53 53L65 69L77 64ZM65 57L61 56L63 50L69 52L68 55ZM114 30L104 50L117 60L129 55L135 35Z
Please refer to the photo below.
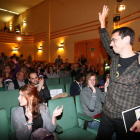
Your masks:
M99 13L102 45L112 62L97 140L110 140L114 131L117 140L133 140L134 133L125 131L122 111L136 107L140 102L140 56L132 50L135 32L131 28L115 29L110 39L105 26L108 12L109 8L103 6L102 13Z

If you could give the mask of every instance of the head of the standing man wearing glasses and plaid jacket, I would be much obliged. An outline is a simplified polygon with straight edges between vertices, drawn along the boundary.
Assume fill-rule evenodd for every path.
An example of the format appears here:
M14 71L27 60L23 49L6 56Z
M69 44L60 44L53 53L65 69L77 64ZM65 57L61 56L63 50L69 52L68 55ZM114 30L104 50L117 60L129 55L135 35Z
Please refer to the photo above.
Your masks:
M135 32L131 28L121 27L112 32L112 41L110 46L113 47L115 53L121 54L128 49L128 46L132 47L134 38Z

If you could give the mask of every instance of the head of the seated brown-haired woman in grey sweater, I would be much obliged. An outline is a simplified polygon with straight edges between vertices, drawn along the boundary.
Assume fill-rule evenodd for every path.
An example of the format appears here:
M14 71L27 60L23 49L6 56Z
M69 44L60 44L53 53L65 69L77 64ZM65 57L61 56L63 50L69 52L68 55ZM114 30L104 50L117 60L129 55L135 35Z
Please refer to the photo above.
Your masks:
M98 80L96 77L96 74L93 72L90 72L89 74L87 74L86 76L86 85L89 85L89 82L92 84L93 87L98 85Z

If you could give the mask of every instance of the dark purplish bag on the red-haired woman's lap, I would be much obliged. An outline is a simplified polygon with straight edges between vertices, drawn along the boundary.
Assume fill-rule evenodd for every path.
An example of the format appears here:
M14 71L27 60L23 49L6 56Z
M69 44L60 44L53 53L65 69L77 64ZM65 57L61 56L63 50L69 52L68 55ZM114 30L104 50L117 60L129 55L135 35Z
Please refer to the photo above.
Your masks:
M54 140L54 135L45 128L39 128L31 134L31 140Z

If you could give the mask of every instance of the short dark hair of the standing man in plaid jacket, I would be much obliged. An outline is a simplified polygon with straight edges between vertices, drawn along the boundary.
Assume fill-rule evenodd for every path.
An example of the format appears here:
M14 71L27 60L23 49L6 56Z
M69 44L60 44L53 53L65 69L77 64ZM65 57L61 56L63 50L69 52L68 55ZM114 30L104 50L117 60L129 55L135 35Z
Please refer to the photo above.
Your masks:
M129 28L129 27L121 27L118 29L115 29L112 34L119 32L119 35L121 36L121 38L123 39L126 36L130 36L130 45L133 45L134 39L135 39L135 32L133 31L133 29Z

